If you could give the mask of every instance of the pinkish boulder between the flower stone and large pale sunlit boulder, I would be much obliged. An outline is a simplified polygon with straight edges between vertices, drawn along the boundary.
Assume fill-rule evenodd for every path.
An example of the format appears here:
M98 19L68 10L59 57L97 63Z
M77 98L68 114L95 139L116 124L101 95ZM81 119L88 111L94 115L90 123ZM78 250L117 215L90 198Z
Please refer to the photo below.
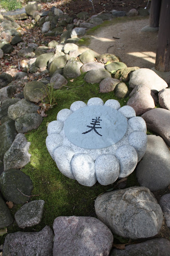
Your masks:
M134 108L136 115L142 115L155 107L157 98L147 86L136 86L130 93L128 106Z

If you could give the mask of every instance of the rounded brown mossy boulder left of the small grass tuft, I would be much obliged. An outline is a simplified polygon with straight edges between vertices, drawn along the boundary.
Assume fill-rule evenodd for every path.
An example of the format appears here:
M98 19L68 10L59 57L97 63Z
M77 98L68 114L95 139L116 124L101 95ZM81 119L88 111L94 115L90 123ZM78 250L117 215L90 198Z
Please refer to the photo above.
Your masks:
M24 86L24 98L30 102L38 103L47 96L46 86L42 82L32 81Z

